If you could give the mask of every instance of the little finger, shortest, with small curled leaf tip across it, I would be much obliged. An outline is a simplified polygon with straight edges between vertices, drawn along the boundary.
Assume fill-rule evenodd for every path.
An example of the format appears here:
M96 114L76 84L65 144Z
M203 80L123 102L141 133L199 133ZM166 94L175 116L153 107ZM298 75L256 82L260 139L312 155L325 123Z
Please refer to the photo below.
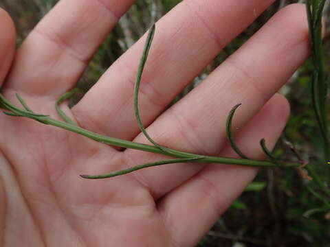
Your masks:
M237 142L252 158L264 158L259 140L274 147L288 117L286 99L275 95L239 133ZM231 148L221 155L232 156ZM255 167L211 164L159 202L159 211L177 246L195 246L256 175ZM189 231L187 231L189 229Z

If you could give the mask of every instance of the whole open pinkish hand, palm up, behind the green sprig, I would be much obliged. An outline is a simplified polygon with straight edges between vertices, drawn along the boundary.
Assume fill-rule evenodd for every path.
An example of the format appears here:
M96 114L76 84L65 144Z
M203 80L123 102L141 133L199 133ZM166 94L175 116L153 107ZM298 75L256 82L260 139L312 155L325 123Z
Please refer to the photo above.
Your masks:
M164 111L272 2L186 0L157 23L140 96L142 120L155 141L188 152L234 157L225 141L225 116L241 102L234 117L241 150L263 158L259 140L274 146L289 115L286 99L276 91L309 54L303 5L278 12L205 82ZM0 80L5 96L17 103L14 93L20 93L36 113L58 118L56 99L76 84L104 36L132 3L81 0L76 5L75 0L61 0L16 54L14 25L1 10ZM71 110L63 106L67 115L94 132L147 143L133 119L132 99L144 38L78 105ZM257 172L235 165L179 164L84 180L78 174L110 172L163 157L119 152L30 119L0 115L0 130L0 246L195 246Z

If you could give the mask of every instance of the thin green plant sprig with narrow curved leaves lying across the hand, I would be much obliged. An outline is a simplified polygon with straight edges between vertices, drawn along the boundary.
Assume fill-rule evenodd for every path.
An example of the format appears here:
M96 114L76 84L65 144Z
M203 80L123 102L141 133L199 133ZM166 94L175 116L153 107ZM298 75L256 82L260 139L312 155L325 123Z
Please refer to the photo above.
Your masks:
M167 165L167 164L173 164L173 163L224 163L224 164L233 164L233 165L247 165L247 166L255 166L255 167L276 167L278 166L278 163L274 162L274 160L270 161L257 161L252 160L250 158L227 158L227 157L217 157L217 156L203 156L200 154L192 154L188 152L182 152L179 150L173 150L170 148L166 148L162 145L159 145L157 142L155 142L146 132L142 121L140 117L140 112L138 108L138 91L140 87L142 72L144 69L144 66L146 64L146 59L148 57L148 51L150 50L151 43L153 40L153 36L155 34L155 25L151 28L151 30L148 32L148 37L146 40L146 45L144 47L144 51L142 54L142 58L140 60L139 69L137 71L137 78L135 80L135 86L134 86L134 108L135 108L135 117L137 119L137 124L140 127L140 130L142 133L146 136L146 138L151 141L153 145L146 145L142 143L135 143L132 141L125 141L121 139L115 139L113 137L106 137L101 134L97 134L88 130L85 130L83 128L80 128L79 126L76 126L74 121L72 119L69 119L65 113L61 110L59 107L60 104L65 100L71 97L75 92L76 89L69 91L68 93L65 93L62 95L57 101L56 101L56 110L58 114L61 116L61 118L65 121L58 121L56 119L52 119L48 115L39 115L34 113L31 108L28 106L28 104L25 103L23 98L17 94L17 99L19 99L19 102L23 106L23 109L18 108L17 106L14 106L14 104L10 103L3 95L0 94L0 103L5 106L8 110L10 110L10 113L6 112L7 115L16 116L16 117L28 117L30 119L34 119L36 121L39 121L43 124L48 124L52 126L56 126L58 128L63 128L65 130L69 130L71 132L75 132L77 134L81 134L85 137L88 137L89 139L93 139L94 141L98 141L100 143L105 143L108 145L115 145L122 148L132 148L135 150L142 150L146 152L153 152L157 154L164 154L166 156L172 156L175 157L175 159L169 159L165 161L157 161L153 163L146 163L144 165L137 165L135 167L130 167L129 169L124 169L117 172L111 172L109 174L101 174L101 175L83 175L83 178L91 178L91 179L98 179L98 178L109 178L113 176L119 176L122 174L127 174L129 172L134 172L139 169L144 169L146 167L153 167L157 165ZM232 126L232 117L234 115L234 112L236 108L238 107L234 106L234 108L230 111L230 114L228 115L227 119L227 132L228 137L232 137L232 134L230 132L230 128ZM235 147L234 141L232 141L232 146ZM236 148L236 151L239 151L239 148ZM241 154L242 156L242 154ZM268 155L269 156L269 155ZM283 167L298 167L300 163L286 163L282 162Z

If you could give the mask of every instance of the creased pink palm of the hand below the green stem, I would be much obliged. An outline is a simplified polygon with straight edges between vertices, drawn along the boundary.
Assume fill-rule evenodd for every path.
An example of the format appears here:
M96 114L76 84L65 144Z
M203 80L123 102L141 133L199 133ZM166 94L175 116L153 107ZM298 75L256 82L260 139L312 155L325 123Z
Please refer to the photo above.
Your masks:
M52 107L43 110L54 113ZM24 150L21 155L11 148L3 151L8 155L8 163L3 159L6 167L17 164L14 169L22 172L22 178L14 178L8 172L10 178L4 180L24 183L24 189L14 191L24 200L17 198L8 204L15 211L7 211L12 217L5 219L9 224L5 244L131 246L141 242L141 246L171 246L155 200L133 176L101 183L79 178L78 174L88 171L91 165L123 165L126 161L122 153L111 155L113 150L107 146L30 120L5 119L1 127L8 130L4 139L17 137L10 145ZM14 182L8 186L13 193ZM16 218L17 215L22 217ZM13 239L8 235L14 235Z

